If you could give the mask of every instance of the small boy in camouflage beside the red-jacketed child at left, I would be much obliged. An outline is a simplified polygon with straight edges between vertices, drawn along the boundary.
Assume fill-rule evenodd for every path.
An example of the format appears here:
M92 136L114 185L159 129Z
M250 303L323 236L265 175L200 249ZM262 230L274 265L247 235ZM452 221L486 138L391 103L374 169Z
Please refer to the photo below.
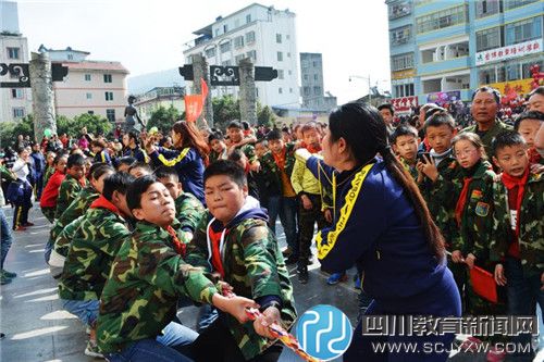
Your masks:
M66 162L66 177L64 177L59 188L54 219L59 219L62 215L85 186L87 186L85 158L78 153L74 153L69 157Z

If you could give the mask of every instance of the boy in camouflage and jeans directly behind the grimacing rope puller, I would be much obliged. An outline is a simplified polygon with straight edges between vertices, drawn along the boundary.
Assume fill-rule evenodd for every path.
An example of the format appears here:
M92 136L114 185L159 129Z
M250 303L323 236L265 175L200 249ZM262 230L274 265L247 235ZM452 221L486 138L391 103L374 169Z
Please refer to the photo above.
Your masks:
M126 188L133 177L114 174L104 180L103 195L91 203L76 229L59 282L59 297L65 310L91 328L85 353L98 355L95 326L98 300L121 245L129 238L125 217Z

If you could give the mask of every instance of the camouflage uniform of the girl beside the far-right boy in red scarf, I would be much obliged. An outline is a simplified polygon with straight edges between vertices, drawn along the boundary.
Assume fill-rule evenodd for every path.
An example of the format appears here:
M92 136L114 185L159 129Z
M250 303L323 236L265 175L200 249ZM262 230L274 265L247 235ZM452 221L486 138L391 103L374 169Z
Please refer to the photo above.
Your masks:
M493 235L493 183L495 173L487 161L474 165L472 182L469 185L461 221L459 237L455 237L452 250L460 250L463 257L472 253L477 258L475 265L493 273L495 265L490 260L490 246ZM461 175L470 177L466 170ZM463 177L454 179L455 199L459 198L463 186ZM460 264L465 266L465 264ZM480 298L471 287L467 271L467 312L471 315L504 314L503 303L493 304Z

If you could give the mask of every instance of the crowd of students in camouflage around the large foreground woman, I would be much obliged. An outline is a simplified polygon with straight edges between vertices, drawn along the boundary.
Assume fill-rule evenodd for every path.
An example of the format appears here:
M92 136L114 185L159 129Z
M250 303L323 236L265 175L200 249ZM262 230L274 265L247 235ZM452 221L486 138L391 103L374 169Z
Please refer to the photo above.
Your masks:
M499 104L496 90L475 90L475 124L461 130L435 104L421 108L419 129L395 128L390 104L379 110L395 154L445 238L463 312L535 315L536 303L544 307L544 183L536 147L544 87L530 95L514 129L496 118ZM281 345L268 338L265 326L288 328L296 319L287 265L296 264L306 284L314 226L333 222L335 188L295 155L306 149L319 157L324 128L310 122L263 134L233 121L223 133L180 121L171 138L124 134L121 151L99 137L89 149L41 157L45 186L36 196L52 224L46 261L63 308L88 328L85 353L110 361L156 354L277 360ZM40 153L35 149L33 154ZM22 232L33 225L32 164L26 148L17 154L2 173L17 185L8 198L16 208L12 228ZM283 251L275 236L279 216ZM16 276L3 270L5 253L2 236L2 283ZM474 291L474 267L493 275L498 302ZM325 272L329 284L347 279L345 271ZM225 297L225 290L237 297ZM176 320L184 300L201 305L198 332ZM258 307L263 316L248 323L246 307Z

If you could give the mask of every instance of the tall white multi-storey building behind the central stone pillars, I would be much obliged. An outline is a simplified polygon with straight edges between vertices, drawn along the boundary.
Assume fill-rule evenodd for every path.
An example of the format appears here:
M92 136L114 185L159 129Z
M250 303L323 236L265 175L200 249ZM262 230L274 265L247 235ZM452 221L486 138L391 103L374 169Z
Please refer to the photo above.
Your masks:
M256 82L257 99L263 105L299 107L298 52L295 13L254 3L195 32L183 53L202 54L210 65L237 65L251 58L256 66L272 66L279 77ZM190 90L189 90L190 91ZM237 96L238 87L212 87L212 96Z

